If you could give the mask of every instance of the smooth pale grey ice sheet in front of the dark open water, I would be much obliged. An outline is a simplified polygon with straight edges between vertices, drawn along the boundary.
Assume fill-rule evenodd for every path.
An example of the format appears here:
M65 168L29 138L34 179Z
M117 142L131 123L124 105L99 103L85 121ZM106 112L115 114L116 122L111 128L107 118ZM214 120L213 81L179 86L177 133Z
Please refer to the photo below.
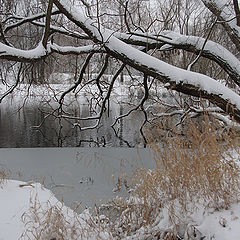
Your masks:
M149 149L129 148L2 148L0 168L10 178L41 182L59 200L78 211L99 205L115 196L126 196L119 185L137 168L155 166Z

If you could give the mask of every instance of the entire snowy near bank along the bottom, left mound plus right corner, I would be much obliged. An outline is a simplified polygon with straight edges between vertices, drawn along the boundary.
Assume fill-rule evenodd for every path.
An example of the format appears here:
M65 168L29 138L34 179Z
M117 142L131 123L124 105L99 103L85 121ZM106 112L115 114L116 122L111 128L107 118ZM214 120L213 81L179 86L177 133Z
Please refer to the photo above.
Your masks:
M93 217L88 210L77 215L39 183L6 181L0 189L0 213L1 240L115 239L104 221L97 222L104 216ZM168 230L167 208L163 208L162 213L157 226L141 228L126 239L146 239L149 232ZM240 236L239 214L239 203L227 210L199 208L188 216L189 228L185 230L184 239L237 240ZM153 235L148 239L154 239Z

